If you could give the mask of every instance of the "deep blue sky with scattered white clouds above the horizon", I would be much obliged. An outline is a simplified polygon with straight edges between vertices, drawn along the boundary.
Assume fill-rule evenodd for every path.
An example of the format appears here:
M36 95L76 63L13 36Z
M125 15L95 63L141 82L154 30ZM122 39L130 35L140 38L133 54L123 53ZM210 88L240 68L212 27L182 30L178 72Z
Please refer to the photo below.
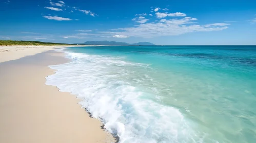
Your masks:
M255 0L0 0L0 39L256 45Z

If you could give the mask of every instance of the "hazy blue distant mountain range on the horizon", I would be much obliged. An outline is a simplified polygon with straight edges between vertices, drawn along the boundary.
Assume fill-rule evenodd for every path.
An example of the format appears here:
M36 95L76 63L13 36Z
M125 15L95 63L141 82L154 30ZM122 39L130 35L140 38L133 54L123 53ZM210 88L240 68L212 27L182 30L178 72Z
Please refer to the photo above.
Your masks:
M87 42L78 43L78 44L87 44L87 45L155 45L150 42L139 42L139 43L129 44L126 42L115 42L115 41L87 41Z

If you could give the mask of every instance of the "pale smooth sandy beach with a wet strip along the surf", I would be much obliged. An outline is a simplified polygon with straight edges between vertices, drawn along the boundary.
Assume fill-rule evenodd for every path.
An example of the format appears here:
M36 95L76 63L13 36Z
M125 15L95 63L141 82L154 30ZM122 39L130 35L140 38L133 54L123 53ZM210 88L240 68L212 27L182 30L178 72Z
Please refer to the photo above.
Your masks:
M115 142L74 95L45 85L48 65L68 62L56 47L0 47L0 142Z

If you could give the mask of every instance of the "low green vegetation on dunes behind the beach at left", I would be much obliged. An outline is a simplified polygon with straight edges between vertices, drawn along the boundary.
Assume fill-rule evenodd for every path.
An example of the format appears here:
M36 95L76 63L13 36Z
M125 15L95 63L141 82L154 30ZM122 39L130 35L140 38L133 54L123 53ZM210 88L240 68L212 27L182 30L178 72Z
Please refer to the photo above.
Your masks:
M51 43L51 42L40 42L40 41L0 40L0 46L1 45L73 45L73 44Z

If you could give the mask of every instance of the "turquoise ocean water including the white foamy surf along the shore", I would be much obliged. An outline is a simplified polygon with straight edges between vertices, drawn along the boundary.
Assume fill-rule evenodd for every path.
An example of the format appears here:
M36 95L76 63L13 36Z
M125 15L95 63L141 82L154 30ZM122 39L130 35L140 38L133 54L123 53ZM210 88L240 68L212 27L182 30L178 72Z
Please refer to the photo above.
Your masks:
M256 46L86 46L46 84L119 142L255 142Z

